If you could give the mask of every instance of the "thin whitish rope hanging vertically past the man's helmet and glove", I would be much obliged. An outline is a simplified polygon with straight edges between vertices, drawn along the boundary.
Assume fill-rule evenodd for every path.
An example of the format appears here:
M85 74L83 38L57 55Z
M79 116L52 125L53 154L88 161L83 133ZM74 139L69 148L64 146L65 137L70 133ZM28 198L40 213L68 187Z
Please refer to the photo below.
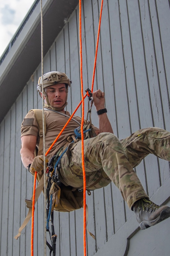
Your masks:
M45 120L44 120L44 84L43 84L43 7L41 2L41 76L42 76L42 106L43 106L43 145L45 145ZM46 170L45 166L45 147L43 146L44 155L44 172ZM44 256L46 256L46 181L44 175Z

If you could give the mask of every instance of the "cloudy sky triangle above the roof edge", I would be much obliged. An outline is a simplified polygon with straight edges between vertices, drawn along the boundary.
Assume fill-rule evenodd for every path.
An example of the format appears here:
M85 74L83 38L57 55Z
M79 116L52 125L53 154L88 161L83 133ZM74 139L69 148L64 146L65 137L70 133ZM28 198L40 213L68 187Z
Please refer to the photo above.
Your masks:
M35 0L0 0L0 57Z

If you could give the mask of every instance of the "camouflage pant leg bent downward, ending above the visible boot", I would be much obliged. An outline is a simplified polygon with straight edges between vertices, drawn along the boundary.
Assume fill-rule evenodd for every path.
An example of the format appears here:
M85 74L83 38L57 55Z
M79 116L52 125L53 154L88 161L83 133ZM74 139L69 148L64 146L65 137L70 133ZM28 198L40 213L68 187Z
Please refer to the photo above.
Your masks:
M122 144L111 133L100 133L84 141L84 158L87 186L93 185L101 169L119 188L129 208L134 202L148 197L140 180L129 163ZM81 141L68 149L61 159L61 180L76 188L83 187ZM101 180L95 188L106 186L110 180Z

